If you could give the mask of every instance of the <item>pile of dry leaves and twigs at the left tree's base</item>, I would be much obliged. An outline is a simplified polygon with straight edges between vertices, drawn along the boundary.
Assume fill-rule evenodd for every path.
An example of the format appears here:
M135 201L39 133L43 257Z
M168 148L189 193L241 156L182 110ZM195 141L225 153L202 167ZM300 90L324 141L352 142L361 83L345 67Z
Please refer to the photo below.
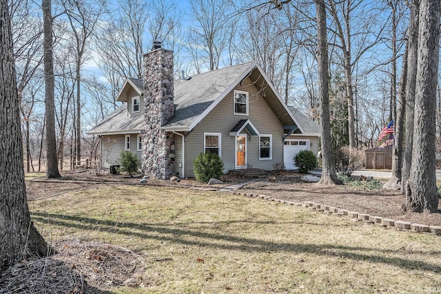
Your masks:
M0 275L0 293L109 293L115 286L143 286L145 264L122 246L65 240L57 254L30 258Z

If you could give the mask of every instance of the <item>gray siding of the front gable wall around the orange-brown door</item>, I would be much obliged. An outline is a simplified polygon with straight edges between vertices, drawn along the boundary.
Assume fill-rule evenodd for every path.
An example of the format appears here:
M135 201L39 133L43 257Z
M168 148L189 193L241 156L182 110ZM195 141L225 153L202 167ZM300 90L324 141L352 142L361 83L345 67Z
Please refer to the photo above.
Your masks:
M248 116L234 114L234 90L249 93ZM224 171L235 169L236 138L229 136L229 131L241 119L249 119L260 134L272 135L272 159L259 160L259 138L252 136L247 141L247 165L259 169L274 169L275 163L283 163L283 126L272 112L265 99L258 94L256 86L249 78L245 78L242 85L237 85L227 94L223 101L201 120L185 140L185 176L194 176L193 162L196 156L204 151L204 133L221 134L221 154L225 164ZM246 131L244 131L246 133ZM250 135L247 134L247 138Z

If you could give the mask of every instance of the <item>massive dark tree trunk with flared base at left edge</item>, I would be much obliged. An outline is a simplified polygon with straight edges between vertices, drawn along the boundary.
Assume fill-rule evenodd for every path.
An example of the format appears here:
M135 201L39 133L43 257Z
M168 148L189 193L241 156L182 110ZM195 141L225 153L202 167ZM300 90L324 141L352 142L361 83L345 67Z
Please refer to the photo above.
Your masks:
M8 0L0 0L0 272L48 246L30 220Z

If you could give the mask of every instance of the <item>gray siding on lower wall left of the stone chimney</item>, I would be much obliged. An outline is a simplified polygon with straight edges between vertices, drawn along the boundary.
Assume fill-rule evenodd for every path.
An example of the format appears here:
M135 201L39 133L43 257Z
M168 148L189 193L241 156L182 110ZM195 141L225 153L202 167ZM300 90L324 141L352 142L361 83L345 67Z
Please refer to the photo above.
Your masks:
M130 151L132 151L132 153L138 158L139 162L141 162L141 151L136 150L138 143L137 140L137 134L130 134ZM108 147L106 148L106 146ZM125 151L125 135L101 137L101 158L103 167L108 168L110 165L118 165L118 159L121 157L123 151Z

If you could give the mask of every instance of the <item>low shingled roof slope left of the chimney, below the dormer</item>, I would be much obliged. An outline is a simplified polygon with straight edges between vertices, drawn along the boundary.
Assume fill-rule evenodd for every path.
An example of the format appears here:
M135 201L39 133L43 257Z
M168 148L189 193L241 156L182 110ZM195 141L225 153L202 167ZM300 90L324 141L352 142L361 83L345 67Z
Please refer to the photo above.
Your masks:
M123 103L112 114L101 120L88 134L134 134L144 129L143 126L144 116L127 116L127 103Z

